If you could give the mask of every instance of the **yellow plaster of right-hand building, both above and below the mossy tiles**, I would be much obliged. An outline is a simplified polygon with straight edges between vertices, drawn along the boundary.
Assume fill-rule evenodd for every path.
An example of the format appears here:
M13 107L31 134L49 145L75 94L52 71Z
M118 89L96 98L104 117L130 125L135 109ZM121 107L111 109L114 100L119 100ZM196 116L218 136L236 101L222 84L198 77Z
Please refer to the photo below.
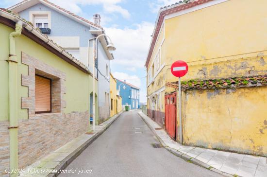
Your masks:
M148 109L151 108L150 95L157 93L167 82L178 81L170 71L171 64L176 60L186 61L189 67L182 81L266 74L266 6L266 0L258 0L257 3L252 0L229 0L165 19L150 58L148 70L153 64L160 44L162 44L161 64L165 64L165 67L155 77L153 84L147 83ZM231 94L221 90L220 96L209 99L206 96L205 92L208 92L206 90L203 93L186 92L188 98L183 93L183 98L188 99L187 102L182 100L185 106L183 107L184 142L209 148L267 155L267 144L262 141L266 139L266 134L259 130L263 129L264 132L267 128L264 124L266 112L263 111L263 107L267 105L266 100L263 99L266 98L264 90L266 92L264 87L237 89ZM163 112L165 111L164 94L173 91L175 89L165 87L161 92ZM254 96L262 100L256 103L257 99ZM226 98L232 102L227 101ZM228 107L232 106L231 115L225 102L229 104ZM244 112L242 104L247 107ZM250 111L251 109L254 111ZM254 115L255 110L258 110L257 116ZM240 121L237 125L234 123L237 120L243 122ZM229 133L231 121L235 124L231 130L232 140ZM220 124L220 126L218 125L216 129L213 124ZM248 129L250 131L246 132Z

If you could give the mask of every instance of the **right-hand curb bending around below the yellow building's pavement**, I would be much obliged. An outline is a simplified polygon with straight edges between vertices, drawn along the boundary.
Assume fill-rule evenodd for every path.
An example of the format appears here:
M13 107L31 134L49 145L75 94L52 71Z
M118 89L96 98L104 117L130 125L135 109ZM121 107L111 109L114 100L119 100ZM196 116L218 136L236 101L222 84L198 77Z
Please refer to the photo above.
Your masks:
M148 127L150 128L150 130L153 132L153 134L157 137L157 139L159 140L159 142L164 146L164 148L167 151L169 151L170 153L174 154L175 156L177 156L179 158L182 158L182 159L184 159L186 161L189 161L189 162L194 163L196 165L199 165L199 166L201 166L203 168L206 168L208 170L211 170L213 172L216 172L216 173L218 173L220 175L223 175L223 176L226 176L226 177L233 177L233 175L231 175L231 174L228 174L228 173L222 172L220 170L217 170L217 169L213 168L212 166L210 166L210 165L208 165L208 164L206 164L206 163L204 163L204 162L202 162L202 161L200 161L200 160L198 160L196 158L193 158L193 157L188 156L188 155L186 155L186 154L184 154L184 153L182 153L182 152L180 152L180 151L178 151L176 149L172 149L172 148L168 147L165 144L165 142L163 142L163 140L157 135L155 129L145 120L145 118L143 117L142 114L144 114L144 113L143 112L138 112L138 115L148 125Z

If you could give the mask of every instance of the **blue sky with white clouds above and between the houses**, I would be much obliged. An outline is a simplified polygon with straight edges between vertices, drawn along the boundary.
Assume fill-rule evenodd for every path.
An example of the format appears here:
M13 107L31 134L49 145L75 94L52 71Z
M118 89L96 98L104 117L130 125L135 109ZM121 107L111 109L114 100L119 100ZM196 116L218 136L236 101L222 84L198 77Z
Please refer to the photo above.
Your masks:
M10 7L22 0L0 0ZM50 0L74 14L93 21L100 14L100 25L117 48L111 61L114 77L140 88L140 102L147 102L145 62L159 8L179 0Z

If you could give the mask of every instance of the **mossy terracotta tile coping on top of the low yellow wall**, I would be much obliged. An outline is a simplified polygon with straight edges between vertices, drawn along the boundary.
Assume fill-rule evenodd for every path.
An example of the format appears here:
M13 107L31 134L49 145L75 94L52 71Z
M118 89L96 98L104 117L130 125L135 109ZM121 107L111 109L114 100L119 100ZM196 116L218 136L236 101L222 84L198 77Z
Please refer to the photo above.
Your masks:
M178 81L168 82L168 87L178 89ZM242 87L267 86L267 75L230 77L209 80L189 80L181 82L182 90L194 89L228 89Z

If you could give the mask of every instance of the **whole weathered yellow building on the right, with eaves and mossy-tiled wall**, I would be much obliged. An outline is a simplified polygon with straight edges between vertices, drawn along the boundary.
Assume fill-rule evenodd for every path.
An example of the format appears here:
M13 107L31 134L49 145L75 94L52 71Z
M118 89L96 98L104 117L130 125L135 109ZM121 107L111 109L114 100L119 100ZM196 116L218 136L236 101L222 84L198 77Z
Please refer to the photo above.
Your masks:
M192 0L161 9L146 61L150 118L168 129L174 113L174 138L184 144L267 156L266 6L266 0ZM182 124L165 99L177 92L170 71L176 60L189 68Z

